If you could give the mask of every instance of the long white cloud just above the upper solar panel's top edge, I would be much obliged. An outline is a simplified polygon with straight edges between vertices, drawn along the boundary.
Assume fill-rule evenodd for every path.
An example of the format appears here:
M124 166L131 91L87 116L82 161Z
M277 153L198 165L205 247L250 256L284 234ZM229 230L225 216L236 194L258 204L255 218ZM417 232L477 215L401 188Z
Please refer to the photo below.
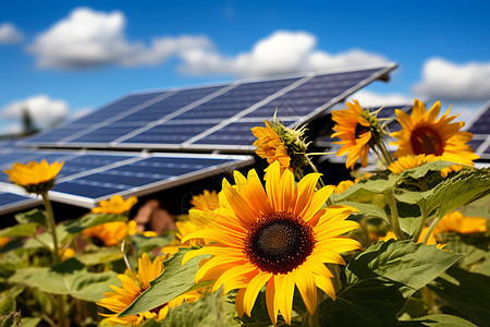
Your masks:
M213 48L194 48L181 53L180 70L188 74L232 74L253 77L322 69L336 69L387 62L380 55L348 50L331 55L317 49L317 38L307 32L277 31L257 41L249 52L235 57Z

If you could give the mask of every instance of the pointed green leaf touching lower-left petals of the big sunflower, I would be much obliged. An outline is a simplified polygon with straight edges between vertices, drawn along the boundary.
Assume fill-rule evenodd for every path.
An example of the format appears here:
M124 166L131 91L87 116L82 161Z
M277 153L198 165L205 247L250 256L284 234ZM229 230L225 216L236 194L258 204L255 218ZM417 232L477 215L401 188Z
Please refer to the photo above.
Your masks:
M182 265L182 259L189 250L181 247L171 258L163 262L163 272L154 279L150 287L119 316L125 317L152 310L181 294L209 284L209 282L194 283L194 277L199 269L199 261L205 256L194 257Z

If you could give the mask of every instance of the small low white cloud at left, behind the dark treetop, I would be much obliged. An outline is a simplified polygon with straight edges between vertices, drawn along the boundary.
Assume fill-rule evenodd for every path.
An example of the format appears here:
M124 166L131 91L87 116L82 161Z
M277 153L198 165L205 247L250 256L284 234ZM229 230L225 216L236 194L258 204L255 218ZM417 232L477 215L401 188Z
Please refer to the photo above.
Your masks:
M5 106L0 114L3 118L22 120L24 110L30 113L33 123L37 128L46 128L64 120L70 107L63 100L51 99L47 95L36 95Z

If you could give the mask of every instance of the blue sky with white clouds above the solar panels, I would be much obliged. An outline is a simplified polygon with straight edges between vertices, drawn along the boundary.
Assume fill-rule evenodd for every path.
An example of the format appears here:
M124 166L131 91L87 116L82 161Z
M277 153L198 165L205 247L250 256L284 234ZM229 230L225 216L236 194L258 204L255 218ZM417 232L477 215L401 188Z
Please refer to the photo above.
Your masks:
M126 93L395 61L366 105L465 120L490 98L488 1L2 1L0 134Z

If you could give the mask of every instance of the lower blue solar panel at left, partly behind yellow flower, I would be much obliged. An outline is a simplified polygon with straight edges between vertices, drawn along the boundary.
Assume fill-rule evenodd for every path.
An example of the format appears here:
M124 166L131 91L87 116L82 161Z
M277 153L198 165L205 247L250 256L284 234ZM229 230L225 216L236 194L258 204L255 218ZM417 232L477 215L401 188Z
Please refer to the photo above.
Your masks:
M0 169L13 161L27 164L41 158L64 161L50 198L87 208L115 194L142 196L254 162L254 157L238 155L9 149L0 152ZM0 192L26 196L22 187L8 182L7 174L0 181ZM0 214L2 210L0 206Z

